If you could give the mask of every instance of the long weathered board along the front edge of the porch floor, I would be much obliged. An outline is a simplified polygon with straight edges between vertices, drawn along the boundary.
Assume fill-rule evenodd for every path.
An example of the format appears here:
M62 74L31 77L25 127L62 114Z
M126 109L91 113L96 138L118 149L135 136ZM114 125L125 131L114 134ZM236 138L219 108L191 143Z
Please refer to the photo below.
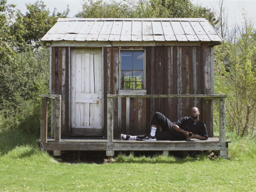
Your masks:
M226 150L226 142L114 142L114 143L40 143L43 150L109 150L109 151L157 151L157 150Z

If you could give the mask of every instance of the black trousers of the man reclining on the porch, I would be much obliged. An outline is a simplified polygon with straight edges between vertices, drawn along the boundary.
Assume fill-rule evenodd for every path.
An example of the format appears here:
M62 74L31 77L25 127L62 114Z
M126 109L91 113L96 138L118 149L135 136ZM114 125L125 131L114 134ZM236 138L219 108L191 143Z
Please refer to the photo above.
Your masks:
M151 124L157 127L156 129L156 140L185 140L186 137L172 129L173 123L162 113L156 112L152 118ZM159 126L163 131L159 131ZM150 134L150 133L148 133ZM138 135L138 138L144 138L148 134Z

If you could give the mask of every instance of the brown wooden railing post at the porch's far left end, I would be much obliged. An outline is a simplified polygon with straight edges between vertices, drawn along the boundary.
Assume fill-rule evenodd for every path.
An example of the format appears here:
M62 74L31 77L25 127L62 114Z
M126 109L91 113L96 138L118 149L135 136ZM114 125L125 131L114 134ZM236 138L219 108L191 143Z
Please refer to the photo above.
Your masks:
M41 142L47 142L47 98L41 98L41 129L40 129Z

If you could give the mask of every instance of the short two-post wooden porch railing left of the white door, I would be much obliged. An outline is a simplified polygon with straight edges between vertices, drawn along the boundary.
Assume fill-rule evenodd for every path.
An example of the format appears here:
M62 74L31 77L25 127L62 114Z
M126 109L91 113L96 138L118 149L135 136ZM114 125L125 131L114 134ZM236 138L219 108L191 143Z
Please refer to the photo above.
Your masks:
M61 95L39 95L41 97L41 136L40 142L47 142L47 99L54 100L53 118L54 142L60 141L60 115L61 115Z

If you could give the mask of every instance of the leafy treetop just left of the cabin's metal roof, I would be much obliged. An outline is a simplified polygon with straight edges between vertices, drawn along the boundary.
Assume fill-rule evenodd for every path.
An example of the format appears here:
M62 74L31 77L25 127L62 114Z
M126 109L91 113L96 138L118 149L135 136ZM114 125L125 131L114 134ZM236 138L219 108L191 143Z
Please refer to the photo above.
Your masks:
M12 25L12 35L16 36L18 42L17 49L25 51L26 46L39 48L43 45L40 39L57 22L59 17L67 17L69 8L63 13L56 12L52 15L42 0L35 4L26 4L27 12L22 14L20 10L16 12L15 22Z

